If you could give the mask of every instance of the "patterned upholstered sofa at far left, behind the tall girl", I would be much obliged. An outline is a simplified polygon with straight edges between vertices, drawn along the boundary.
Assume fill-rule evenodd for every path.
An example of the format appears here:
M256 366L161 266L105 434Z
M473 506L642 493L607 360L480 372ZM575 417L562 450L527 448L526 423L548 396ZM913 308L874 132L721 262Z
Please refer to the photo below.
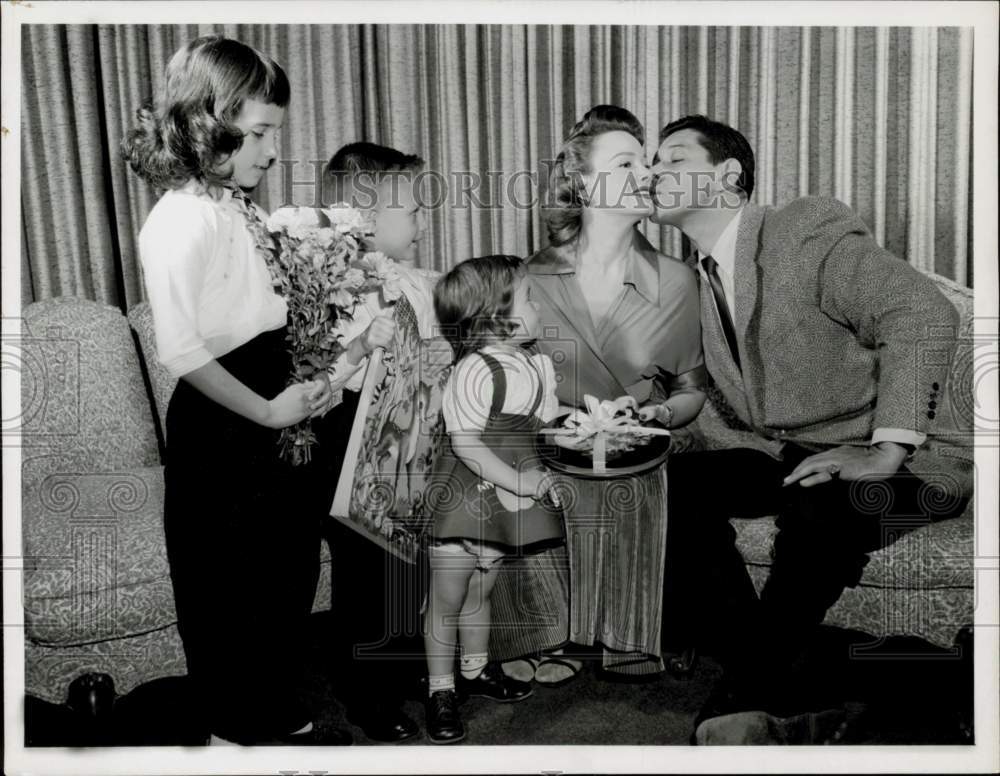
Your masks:
M20 342L25 690L66 700L80 674L119 694L186 673L163 540L158 422L173 381L149 308L28 305ZM142 353L149 384L143 373ZM330 555L314 609L330 606Z

